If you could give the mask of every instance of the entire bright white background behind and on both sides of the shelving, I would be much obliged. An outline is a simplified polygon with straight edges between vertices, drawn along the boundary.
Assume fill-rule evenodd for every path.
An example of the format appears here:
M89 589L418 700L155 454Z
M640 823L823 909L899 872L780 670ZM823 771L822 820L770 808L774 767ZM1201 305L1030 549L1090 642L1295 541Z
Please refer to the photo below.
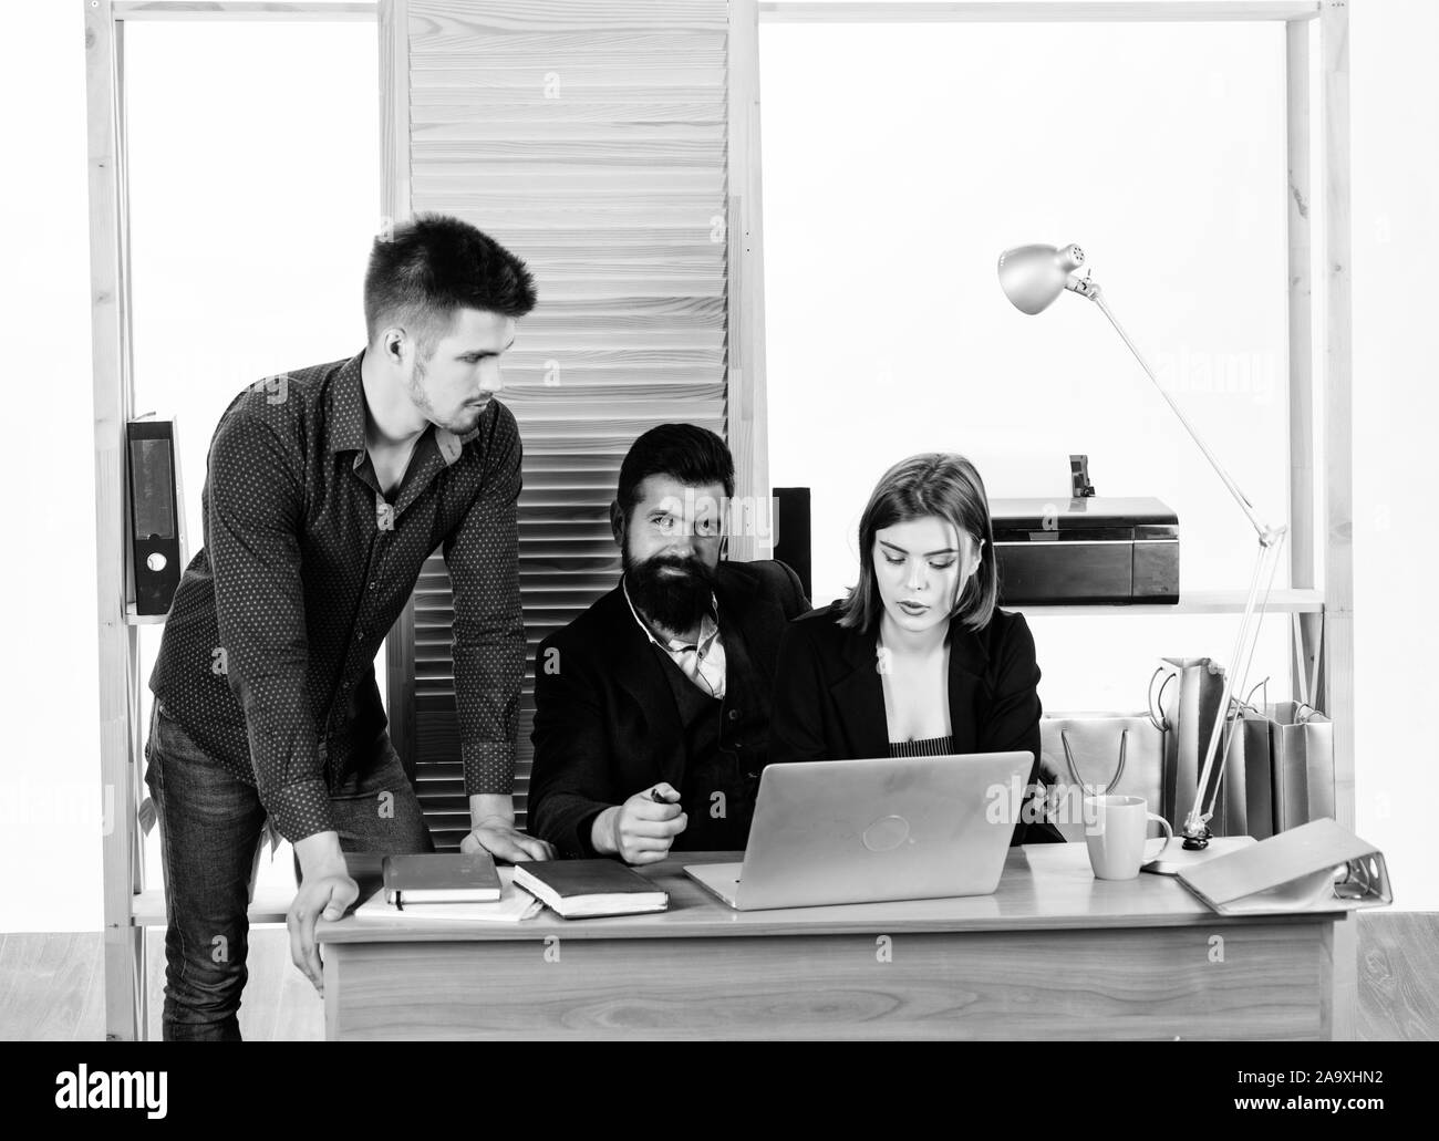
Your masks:
M1433 909L1439 9L1360 0L1350 22L1357 830L1384 849L1397 905ZM363 341L374 33L289 26L281 46L262 27L226 24L199 56L158 35L132 45L132 68L157 52L157 83L174 83L145 96L144 125L131 105L132 161L148 155L154 171L132 186L132 236L148 235L137 370L155 386L140 410L183 406L187 452L239 386ZM819 601L852 581L873 479L931 447L971 455L993 495L1063 494L1065 458L1088 452L1102 494L1179 509L1187 588L1246 580L1248 524L1102 315L1075 296L1036 318L1003 301L994 259L1023 242L1086 247L1117 315L1261 514L1285 514L1278 30L1071 32L763 30L771 468L777 483L825 489ZM14 525L0 931L99 929L82 6L16 6L3 43ZM255 134L265 122L272 134ZM1204 391L1203 363L1226 354L1250 361L1249 387ZM1225 619L1094 622L1036 624L1048 708L1138 708L1156 655L1223 658L1232 636ZM1282 643L1274 653L1282 673Z

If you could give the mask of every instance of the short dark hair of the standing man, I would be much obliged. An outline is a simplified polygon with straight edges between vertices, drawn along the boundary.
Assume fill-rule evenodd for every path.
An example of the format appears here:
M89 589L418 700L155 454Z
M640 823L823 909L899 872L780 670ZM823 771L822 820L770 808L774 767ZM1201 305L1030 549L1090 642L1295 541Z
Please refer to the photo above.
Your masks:
M364 321L371 345L399 325L427 357L458 309L524 317L534 306L534 278L525 263L458 217L416 214L391 237L376 237L370 249Z

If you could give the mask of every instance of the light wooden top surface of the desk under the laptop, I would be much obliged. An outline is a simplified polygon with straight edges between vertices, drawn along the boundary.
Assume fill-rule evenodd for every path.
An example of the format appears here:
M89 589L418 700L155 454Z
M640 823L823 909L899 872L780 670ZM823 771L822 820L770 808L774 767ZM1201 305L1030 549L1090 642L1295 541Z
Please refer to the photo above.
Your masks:
M1012 847L993 895L889 904L732 911L685 875L686 863L738 860L738 852L685 852L640 869L669 892L669 911L596 919L561 919L545 909L524 922L360 919L321 922L321 942L508 941L563 934L567 940L714 938L724 935L825 935L904 931L1062 931L1097 928L1315 922L1341 908L1289 915L1216 915L1173 876L1095 879L1082 843ZM361 901L378 889L378 859L351 856Z

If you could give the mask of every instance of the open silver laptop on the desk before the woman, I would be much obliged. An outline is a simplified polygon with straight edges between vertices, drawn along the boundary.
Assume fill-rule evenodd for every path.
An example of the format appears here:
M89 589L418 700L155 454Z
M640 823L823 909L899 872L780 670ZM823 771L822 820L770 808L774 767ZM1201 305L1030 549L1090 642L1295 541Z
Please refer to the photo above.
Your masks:
M1030 753L767 765L744 863L685 873L737 911L989 895Z

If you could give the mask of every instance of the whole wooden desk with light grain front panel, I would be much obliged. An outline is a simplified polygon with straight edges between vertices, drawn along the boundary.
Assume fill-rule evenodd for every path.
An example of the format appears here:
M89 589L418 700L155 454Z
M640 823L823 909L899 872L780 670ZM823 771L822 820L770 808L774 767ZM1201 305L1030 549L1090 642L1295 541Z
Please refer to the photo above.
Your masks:
M1220 918L1177 881L1012 849L994 895L735 912L682 865L659 915L321 924L331 1039L1325 1039L1347 912Z

